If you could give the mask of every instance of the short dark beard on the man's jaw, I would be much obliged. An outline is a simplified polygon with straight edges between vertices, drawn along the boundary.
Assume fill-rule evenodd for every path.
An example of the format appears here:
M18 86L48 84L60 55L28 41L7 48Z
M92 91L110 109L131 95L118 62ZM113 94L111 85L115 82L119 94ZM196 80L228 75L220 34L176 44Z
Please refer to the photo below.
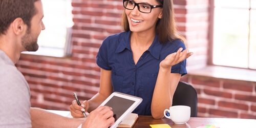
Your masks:
M38 50L37 37L31 34L30 29L27 29L26 34L22 37L22 45L27 51Z

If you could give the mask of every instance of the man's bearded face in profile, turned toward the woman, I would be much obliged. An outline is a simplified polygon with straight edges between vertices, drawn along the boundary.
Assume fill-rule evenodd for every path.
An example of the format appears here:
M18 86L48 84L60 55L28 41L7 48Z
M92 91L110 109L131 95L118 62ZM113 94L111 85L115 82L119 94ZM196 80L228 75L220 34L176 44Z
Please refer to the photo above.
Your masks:
M42 17L44 17L42 3L37 1L34 5L37 12L31 19L30 28L27 29L26 34L22 37L22 45L26 51L36 51L38 49L37 38L41 30L45 29L45 25L42 23Z

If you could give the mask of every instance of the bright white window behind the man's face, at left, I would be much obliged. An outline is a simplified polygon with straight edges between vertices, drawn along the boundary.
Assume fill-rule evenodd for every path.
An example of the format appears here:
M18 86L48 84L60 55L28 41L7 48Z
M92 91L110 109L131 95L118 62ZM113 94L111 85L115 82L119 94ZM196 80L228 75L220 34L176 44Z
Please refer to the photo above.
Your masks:
M71 46L71 0L42 0L43 22L46 29L38 37L39 49L28 54L63 57L69 55Z

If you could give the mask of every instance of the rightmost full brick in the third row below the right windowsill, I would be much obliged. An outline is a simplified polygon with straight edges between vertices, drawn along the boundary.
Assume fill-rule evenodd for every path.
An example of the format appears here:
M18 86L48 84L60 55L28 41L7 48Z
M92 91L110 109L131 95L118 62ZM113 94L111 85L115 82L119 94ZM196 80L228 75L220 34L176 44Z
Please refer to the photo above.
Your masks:
M242 103L219 101L218 106L223 106L225 108L238 109L238 110L248 110L249 106Z

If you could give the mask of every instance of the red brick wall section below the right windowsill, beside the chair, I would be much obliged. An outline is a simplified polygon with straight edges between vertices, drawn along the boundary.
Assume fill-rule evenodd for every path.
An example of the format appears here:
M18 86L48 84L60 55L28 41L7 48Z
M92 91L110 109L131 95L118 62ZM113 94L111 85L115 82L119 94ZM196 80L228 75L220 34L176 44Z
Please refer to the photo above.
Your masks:
M187 75L198 93L198 116L256 119L256 82Z

